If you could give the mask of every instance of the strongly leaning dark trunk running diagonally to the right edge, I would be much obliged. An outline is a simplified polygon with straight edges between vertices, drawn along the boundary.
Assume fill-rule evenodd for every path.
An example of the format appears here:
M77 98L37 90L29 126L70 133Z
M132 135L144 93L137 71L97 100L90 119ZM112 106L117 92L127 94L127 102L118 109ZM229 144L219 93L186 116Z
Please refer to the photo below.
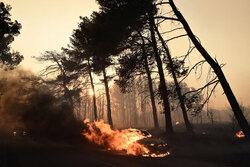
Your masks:
M237 102L237 99L234 96L234 93L233 93L229 83L227 82L227 79L226 79L224 73L222 72L220 65L212 59L212 57L209 55L209 53L206 51L206 49L196 39L196 37L193 34L191 28L189 27L187 21L185 20L183 15L176 8L173 0L169 0L169 4L172 7L178 20L182 23L185 31L187 32L189 38L192 40L192 42L195 45L195 47L197 48L197 50L201 53L201 55L204 57L204 59L210 64L210 66L214 70L214 72L217 75L217 77L220 81L220 84L224 90L224 93L226 94L226 97L231 105L231 108L234 112L235 118L237 119L237 121L240 125L240 128L244 132L245 136L250 138L249 124L242 113L242 110L239 106L239 103Z

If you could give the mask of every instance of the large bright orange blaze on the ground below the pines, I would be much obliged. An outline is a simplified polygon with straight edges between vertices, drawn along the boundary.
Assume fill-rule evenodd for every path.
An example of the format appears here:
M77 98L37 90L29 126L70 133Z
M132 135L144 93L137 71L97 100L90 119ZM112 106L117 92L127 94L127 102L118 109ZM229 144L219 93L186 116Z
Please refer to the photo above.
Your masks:
M151 137L137 129L113 130L104 120L90 123L89 119L84 121L88 129L82 132L89 142L104 147L106 150L124 152L127 155L145 156L145 157L164 157L170 153L155 154L151 153L149 148L139 143L139 140ZM152 144L151 146L153 146Z

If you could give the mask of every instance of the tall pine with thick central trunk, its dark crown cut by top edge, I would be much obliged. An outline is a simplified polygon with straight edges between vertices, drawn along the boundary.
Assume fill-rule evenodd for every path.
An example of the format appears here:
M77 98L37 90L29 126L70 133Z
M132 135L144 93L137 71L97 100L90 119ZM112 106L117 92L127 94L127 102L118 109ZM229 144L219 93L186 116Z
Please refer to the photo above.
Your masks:
M156 13L156 8L153 5L154 1L153 0L147 0L147 1L131 1L131 0L116 1L116 0L114 0L111 2L111 1L100 0L98 2L101 4L102 11L109 13L109 14L112 14L113 16L121 16L121 17L118 17L119 18L118 22L114 22L115 19L110 19L110 20L112 20L113 23L121 23L118 25L125 25L125 27L127 28L127 29L125 29L126 31L124 31L124 32L119 31L119 33L129 32L129 31L127 31L127 30L129 30L129 28L131 29L131 31L133 31L133 29L135 30L134 25L137 25L136 30L138 30L139 28L143 27L143 25L146 23L145 20L149 20L152 46L153 46L153 51L154 51L155 59L157 62L157 67L159 70L160 81L161 81L160 82L160 88L161 88L160 92L162 94L163 105L164 105L164 113L165 113L165 119L166 119L166 131L168 134L171 134L173 132L173 127L172 127L172 122L171 122L170 104L168 101L167 86L166 86L165 77L164 77L164 70L162 67L162 60L161 60L161 57L158 53L157 41L155 39L154 27L153 27L153 21L154 21L153 15ZM142 7L143 7L143 10L140 11L140 9ZM126 13L126 9L129 9L128 13ZM120 14L120 15L117 15L116 11L118 11L118 14ZM141 13L138 11L140 11ZM128 16L126 15L127 17L125 19L122 19L123 17L121 15L121 13L123 15L124 15L124 13L126 13L126 14L128 14ZM131 13L133 14L132 16L131 16ZM129 17L129 16L131 16L131 17ZM138 16L140 16L140 17L138 17ZM133 25L131 23L135 23L135 24ZM142 23L144 23L144 24L142 24ZM116 25L116 24L114 24L114 25ZM123 30L122 29L123 27L124 26L120 27L119 30Z

